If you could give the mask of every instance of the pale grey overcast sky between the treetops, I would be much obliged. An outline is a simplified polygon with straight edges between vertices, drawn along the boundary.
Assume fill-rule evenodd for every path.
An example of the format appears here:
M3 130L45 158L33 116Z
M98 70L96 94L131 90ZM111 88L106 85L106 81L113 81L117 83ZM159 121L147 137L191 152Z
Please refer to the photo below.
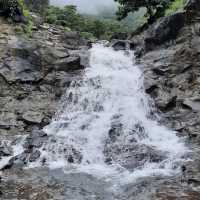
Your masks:
M115 6L114 0L50 0L54 5L73 4L77 5L79 11L94 14L99 7Z

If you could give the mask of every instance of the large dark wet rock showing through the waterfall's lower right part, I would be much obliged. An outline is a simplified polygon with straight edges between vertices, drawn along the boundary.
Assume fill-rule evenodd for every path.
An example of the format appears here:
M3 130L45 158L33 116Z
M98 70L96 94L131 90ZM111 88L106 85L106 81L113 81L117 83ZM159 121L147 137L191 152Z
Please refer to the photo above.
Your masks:
M112 127L108 133L109 138L104 147L107 164L118 163L133 171L146 162L159 163L166 159L165 153L137 142L148 137L142 124L135 124L132 130L127 133L124 131L120 119L120 115L115 115L112 118Z

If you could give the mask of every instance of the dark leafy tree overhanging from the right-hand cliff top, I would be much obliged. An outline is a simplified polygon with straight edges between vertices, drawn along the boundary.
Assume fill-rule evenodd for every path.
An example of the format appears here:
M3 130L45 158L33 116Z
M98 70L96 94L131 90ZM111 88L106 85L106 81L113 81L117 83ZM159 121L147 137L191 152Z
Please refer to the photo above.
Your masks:
M118 18L127 17L128 13L138 11L141 7L147 9L148 23L152 24L159 17L164 16L165 10L175 0L115 0L120 4Z

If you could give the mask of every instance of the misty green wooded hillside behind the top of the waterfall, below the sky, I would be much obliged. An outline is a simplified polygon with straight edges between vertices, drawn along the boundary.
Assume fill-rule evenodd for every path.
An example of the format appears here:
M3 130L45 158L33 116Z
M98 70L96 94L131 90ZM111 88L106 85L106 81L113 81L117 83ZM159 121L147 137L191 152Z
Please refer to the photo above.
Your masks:
M113 8L99 8L96 15L79 14L75 6L63 8L49 6L45 12L45 21L63 26L66 31L78 31L86 39L110 40L121 33L127 35L146 23L146 9L129 13L127 18L118 21Z

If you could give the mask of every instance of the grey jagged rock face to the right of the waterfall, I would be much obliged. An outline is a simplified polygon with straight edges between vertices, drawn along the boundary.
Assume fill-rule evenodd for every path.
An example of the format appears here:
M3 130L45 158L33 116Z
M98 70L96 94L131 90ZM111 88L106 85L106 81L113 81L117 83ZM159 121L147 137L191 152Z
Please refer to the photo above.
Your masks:
M199 0L188 1L184 11L161 19L139 36L144 42L137 42L145 89L163 117L161 123L185 137L193 150L183 177L161 183L148 199L199 199L199 10Z

